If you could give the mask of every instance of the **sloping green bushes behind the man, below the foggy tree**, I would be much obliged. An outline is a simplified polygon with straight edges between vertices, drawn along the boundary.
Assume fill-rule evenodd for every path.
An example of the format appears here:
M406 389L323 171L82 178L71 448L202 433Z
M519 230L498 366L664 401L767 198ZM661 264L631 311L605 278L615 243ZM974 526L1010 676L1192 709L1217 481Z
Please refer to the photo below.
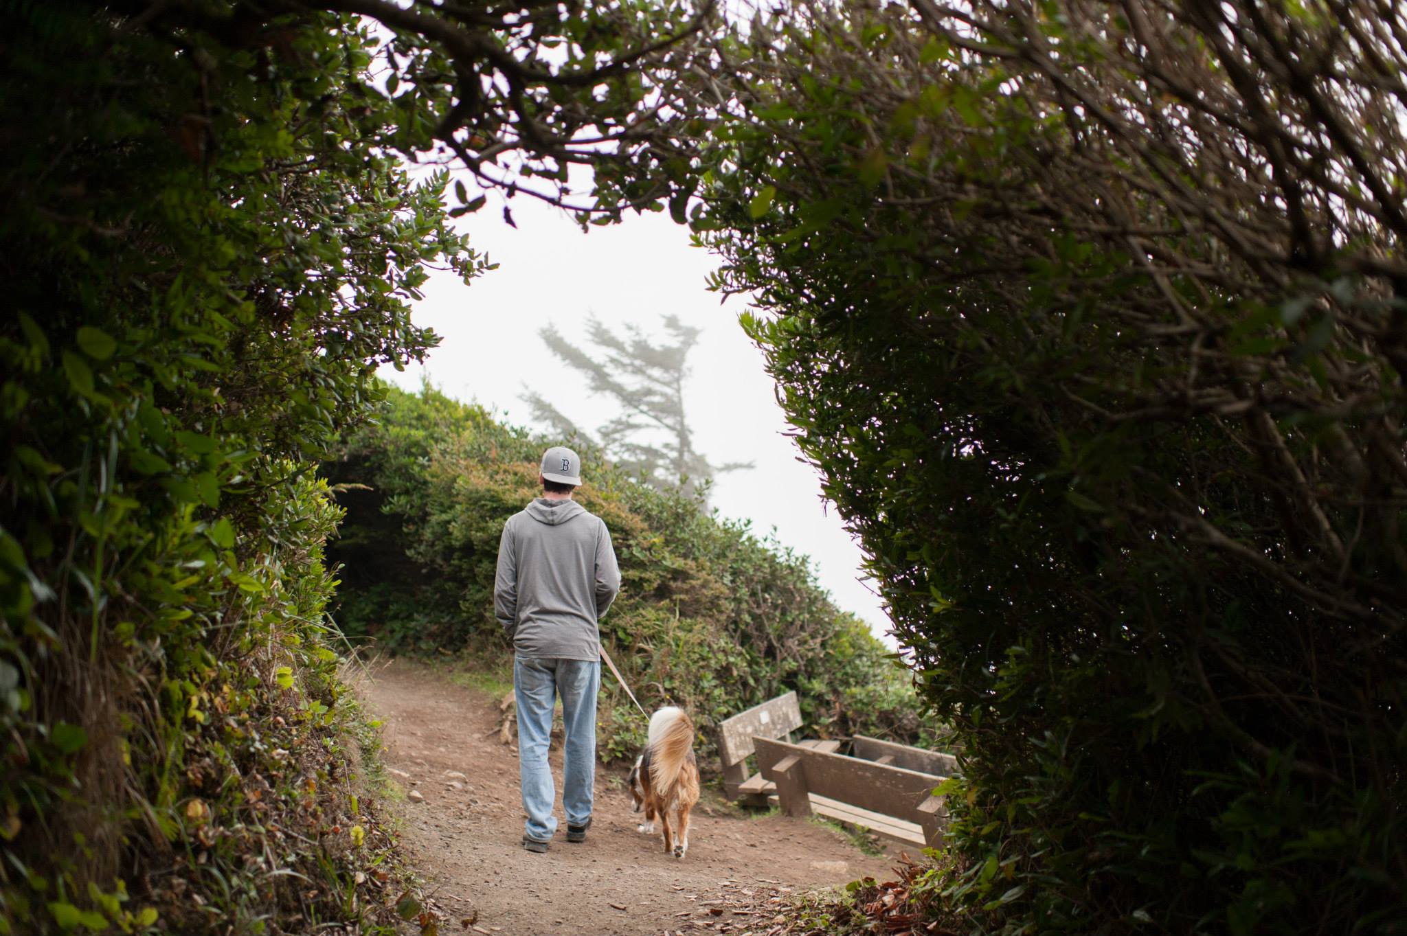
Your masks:
M540 493L549 444L433 389L393 389L377 424L325 468L348 509L331 547L343 564L342 627L395 649L508 654L492 613L498 538ZM584 457L575 498L611 528L623 578L602 637L647 708L684 704L708 728L795 689L808 729L923 734L908 675L836 609L803 557ZM605 684L602 758L630 755L643 720Z

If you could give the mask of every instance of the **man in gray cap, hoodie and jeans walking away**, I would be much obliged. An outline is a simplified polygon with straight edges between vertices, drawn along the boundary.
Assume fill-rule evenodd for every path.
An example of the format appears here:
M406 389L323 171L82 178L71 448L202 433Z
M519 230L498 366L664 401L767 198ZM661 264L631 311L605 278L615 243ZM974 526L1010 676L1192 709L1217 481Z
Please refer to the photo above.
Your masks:
M620 569L605 521L571 499L581 483L577 453L549 448L537 481L542 496L504 524L494 579L494 614L514 641L518 772L528 814L523 847L529 852L546 852L557 831L552 814L556 790L547 766L557 696L567 728L561 783L567 840L587 840L601 689L597 621L620 590Z

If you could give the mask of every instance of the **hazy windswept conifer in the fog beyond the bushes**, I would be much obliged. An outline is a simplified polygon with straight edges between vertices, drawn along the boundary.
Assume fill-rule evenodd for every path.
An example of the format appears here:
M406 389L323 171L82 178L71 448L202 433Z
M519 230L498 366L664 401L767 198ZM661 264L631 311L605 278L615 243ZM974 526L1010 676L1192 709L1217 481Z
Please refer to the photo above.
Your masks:
M543 327L543 343L568 367L587 375L591 392L609 396L620 415L597 429L592 438L552 401L529 389L522 399L533 417L563 437L581 438L599 447L612 461L656 488L678 483L689 495L704 496L716 474L751 468L753 462L715 465L694 448L684 410L688 354L699 330L677 315L663 318L667 339L656 343L637 325L618 334L595 316L587 319L590 350L577 347L557 332Z

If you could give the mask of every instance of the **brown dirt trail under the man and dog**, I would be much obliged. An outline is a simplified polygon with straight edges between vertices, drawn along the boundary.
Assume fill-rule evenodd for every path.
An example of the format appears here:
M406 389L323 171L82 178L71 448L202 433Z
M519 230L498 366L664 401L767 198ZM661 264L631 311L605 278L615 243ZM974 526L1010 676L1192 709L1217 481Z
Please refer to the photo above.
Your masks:
M778 897L884 876L893 863L833 828L749 818L711 793L694 811L688 854L675 859L658 832L636 832L625 769L599 766L591 832L568 843L560 745L557 836L535 854L521 843L516 738L499 741L497 698L404 661L377 666L359 693L384 722L386 763L408 794L404 840L446 916L442 933L763 936Z

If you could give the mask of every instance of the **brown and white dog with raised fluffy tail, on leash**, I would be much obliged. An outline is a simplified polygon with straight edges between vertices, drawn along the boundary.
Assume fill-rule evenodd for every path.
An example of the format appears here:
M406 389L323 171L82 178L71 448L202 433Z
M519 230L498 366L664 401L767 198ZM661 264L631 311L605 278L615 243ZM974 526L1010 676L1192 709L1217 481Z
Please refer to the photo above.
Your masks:
M630 769L635 811L644 811L636 829L654 835L654 818L664 826L664 853L681 859L689 850L689 810L699 801L699 769L694 759L694 722L682 708L667 706L650 715L650 741ZM678 840L670 826L675 818Z

